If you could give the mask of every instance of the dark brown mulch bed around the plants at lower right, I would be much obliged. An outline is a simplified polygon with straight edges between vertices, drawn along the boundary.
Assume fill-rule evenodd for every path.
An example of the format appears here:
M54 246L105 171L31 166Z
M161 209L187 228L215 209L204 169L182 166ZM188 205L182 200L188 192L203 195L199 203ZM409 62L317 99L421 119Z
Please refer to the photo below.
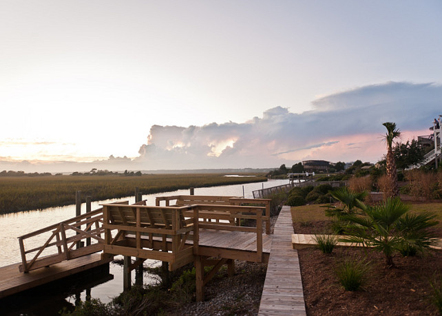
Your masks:
M295 233L322 233L328 224L293 226ZM416 257L396 255L396 268L386 268L381 253L360 248L338 247L330 255L306 248L298 254L308 315L439 315L430 302L430 281L435 276L442 280L442 251ZM336 266L346 257L370 261L369 279L361 290L345 291L337 280Z

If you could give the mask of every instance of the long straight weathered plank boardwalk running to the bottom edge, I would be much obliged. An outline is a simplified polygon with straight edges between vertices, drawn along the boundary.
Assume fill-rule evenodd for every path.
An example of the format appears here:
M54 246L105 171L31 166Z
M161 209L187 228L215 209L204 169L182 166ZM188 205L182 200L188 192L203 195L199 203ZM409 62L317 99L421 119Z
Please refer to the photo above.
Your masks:
M290 207L282 207L275 224L258 315L306 315L297 251L292 248Z

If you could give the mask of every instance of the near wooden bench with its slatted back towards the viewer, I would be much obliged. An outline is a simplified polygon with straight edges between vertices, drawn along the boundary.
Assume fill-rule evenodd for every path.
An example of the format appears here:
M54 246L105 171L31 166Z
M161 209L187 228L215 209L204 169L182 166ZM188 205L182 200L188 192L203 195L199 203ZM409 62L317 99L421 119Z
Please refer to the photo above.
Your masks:
M103 204L103 252L169 262L171 270L193 262L193 246L186 244L193 231L193 219L185 218L188 210Z

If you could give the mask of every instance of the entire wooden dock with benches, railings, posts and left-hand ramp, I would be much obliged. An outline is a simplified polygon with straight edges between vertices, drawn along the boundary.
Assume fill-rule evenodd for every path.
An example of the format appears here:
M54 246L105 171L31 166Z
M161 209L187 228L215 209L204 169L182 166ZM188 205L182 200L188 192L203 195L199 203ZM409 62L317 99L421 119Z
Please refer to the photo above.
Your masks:
M204 201L213 198L214 203L220 199L203 198ZM124 288L131 286L131 271L147 259L162 261L170 271L193 262L196 298L202 301L204 285L224 264L231 275L234 260L269 260L273 235L263 235L262 231L263 222L266 232L270 231L269 200L226 199L229 204L178 207L150 207L145 201L131 205L127 201L103 204L103 208L22 235L19 237L21 264L0 268L0 298L109 263L114 255L123 255ZM242 227L242 221L249 221L251 226ZM48 236L42 245L27 247L30 238L41 234ZM45 251L52 251L52 255L43 255ZM131 262L131 257L136 260ZM207 272L204 266L213 268Z

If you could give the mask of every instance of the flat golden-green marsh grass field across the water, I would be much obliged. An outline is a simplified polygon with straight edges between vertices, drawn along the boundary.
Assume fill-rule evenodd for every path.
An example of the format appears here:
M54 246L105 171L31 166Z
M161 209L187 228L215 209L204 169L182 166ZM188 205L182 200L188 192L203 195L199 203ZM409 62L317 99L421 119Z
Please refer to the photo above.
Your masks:
M143 176L0 177L0 213L60 207L75 203L75 192L92 200L133 196L135 188L153 194L190 187L214 187L266 181L255 177L224 177L223 173L149 174Z

